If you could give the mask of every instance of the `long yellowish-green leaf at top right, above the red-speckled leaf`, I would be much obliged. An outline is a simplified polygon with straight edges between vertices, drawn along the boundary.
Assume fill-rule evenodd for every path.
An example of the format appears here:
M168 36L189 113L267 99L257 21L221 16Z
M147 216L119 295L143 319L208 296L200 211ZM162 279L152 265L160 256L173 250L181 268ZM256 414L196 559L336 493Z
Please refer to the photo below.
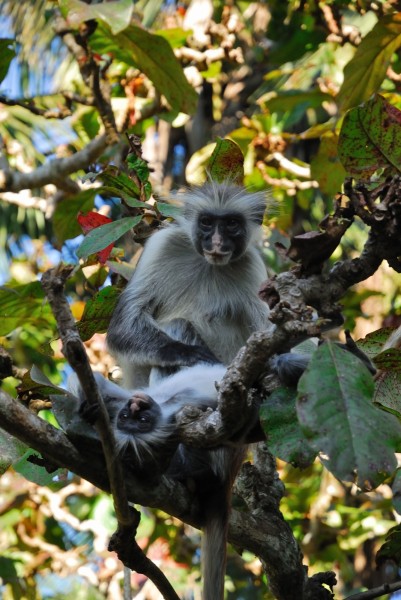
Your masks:
M357 106L377 92L393 53L401 45L401 13L384 16L362 40L355 56L345 66L344 81L337 96L343 111Z

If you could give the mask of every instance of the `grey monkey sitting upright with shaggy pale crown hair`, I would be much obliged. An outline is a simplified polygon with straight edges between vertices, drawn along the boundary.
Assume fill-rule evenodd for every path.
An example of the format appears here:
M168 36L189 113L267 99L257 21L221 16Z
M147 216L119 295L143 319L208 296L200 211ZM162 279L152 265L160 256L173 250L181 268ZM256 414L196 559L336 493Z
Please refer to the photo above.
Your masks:
M148 385L153 367L228 365L251 333L268 326L257 243L266 193L209 181L182 199L182 216L146 242L108 327L108 348L128 388ZM204 344L172 337L168 327L177 319Z

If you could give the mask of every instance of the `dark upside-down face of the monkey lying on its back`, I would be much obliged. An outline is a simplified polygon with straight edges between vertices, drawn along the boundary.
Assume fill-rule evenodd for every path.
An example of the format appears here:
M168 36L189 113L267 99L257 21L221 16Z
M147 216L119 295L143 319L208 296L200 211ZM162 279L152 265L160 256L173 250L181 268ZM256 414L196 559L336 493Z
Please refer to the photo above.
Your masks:
M161 418L160 406L147 394L134 392L117 416L117 429L130 435L149 433Z

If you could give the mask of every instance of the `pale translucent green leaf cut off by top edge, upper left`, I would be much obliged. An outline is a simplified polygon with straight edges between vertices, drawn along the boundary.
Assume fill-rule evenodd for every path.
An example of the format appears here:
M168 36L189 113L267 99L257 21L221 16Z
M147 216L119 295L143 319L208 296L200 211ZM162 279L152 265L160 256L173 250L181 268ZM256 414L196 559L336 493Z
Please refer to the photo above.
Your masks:
M80 0L59 0L59 5L67 23L74 29L84 21L100 19L110 25L113 34L128 27L134 10L132 0L115 0L92 5Z

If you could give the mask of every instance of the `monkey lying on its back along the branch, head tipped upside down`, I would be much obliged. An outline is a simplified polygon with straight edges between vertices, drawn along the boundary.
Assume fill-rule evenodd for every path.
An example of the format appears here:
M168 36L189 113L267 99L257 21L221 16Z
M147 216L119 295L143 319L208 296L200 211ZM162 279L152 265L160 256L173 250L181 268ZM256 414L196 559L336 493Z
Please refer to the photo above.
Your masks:
M231 489L246 445L238 440L210 449L184 445L177 440L176 416L188 404L202 410L215 409L216 382L225 372L222 364L198 363L136 390L121 388L95 374L124 464L144 477L157 473L195 488L200 507L197 517L203 530L203 600L222 600L224 596ZM75 376L70 378L69 389L85 404ZM257 414L255 407L255 420Z

